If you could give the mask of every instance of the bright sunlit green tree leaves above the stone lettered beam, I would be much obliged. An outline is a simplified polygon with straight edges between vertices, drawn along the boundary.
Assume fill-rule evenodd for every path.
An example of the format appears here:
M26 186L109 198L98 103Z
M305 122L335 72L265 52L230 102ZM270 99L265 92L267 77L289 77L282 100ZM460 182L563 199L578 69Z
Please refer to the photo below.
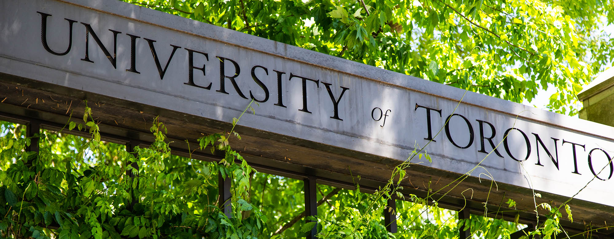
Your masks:
M612 0L125 1L570 115L614 59Z

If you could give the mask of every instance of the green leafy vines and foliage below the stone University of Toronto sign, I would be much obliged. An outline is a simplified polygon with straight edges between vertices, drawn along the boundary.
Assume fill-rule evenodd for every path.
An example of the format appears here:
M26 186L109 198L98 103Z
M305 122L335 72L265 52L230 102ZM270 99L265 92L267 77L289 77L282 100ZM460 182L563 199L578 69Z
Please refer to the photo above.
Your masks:
M235 131L200 138L201 150L224 155L220 162L203 162L172 155L173 142L157 119L150 128L155 141L133 149L100 141L93 119L86 108L82 123L65 126L91 138L49 130L25 137L24 125L1 122L0 238L298 238L313 227L319 238L457 238L461 226L500 238L519 227L475 215L459 221L456 212L438 208L436 198L398 192L411 158L422 157L416 151L375 194L318 185L319 216L305 217L303 182L249 167L228 144L230 137L240 138ZM38 153L28 151L33 139L40 141ZM231 181L227 214L218 176ZM393 196L406 201L398 207L397 233L387 232L382 218L392 210L386 202ZM539 206L551 213L531 233L560 233L560 207ZM565 210L570 215L569 206Z

